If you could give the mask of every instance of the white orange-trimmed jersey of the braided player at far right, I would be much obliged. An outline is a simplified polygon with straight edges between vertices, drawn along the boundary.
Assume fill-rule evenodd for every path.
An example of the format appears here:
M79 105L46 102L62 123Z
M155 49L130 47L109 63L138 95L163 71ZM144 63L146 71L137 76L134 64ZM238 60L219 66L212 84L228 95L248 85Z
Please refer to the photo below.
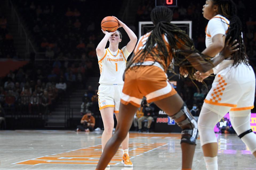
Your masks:
M209 20L208 25L205 28L205 45L206 48L213 44L212 37L217 34L225 35L229 29L229 20L222 15L216 15ZM217 54L216 56L218 56ZM214 74L225 69L228 65L233 64L234 60L223 60L219 65L213 68Z

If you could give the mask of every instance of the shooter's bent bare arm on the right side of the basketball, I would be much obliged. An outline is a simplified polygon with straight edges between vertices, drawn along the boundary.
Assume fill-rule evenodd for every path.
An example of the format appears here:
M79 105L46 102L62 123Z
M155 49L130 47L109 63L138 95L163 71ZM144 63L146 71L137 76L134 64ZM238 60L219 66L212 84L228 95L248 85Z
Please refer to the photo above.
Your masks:
M115 19L117 19L117 17L113 16ZM126 33L128 34L130 41L129 43L126 45L126 48L128 50L129 53L133 52L135 45L137 43L137 36L135 35L135 33L133 31L131 31L131 29L129 27L127 27L127 25L125 25L122 21L120 21L119 19L117 19L118 21L118 28L123 27L123 29L126 31Z

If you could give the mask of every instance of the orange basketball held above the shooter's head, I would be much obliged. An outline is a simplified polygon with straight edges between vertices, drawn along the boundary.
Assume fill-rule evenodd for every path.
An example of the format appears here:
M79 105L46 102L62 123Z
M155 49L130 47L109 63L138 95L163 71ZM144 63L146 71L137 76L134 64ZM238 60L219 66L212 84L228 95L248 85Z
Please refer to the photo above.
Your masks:
M118 21L113 16L106 16L101 21L101 29L103 31L115 32L118 28Z

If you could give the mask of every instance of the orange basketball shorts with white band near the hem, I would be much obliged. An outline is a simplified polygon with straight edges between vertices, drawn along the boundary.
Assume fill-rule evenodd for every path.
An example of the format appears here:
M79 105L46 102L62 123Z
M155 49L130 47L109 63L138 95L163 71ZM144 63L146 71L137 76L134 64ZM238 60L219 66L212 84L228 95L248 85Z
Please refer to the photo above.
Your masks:
M157 63L157 65L159 65ZM167 75L161 66L135 66L125 73L121 103L141 107L143 96L151 103L173 96L177 91L168 82Z

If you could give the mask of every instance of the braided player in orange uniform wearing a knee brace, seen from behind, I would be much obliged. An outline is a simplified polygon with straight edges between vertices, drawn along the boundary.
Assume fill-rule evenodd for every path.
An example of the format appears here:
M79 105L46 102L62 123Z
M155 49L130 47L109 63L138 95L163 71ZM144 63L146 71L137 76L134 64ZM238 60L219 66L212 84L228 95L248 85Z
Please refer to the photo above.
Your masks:
M238 44L231 47L228 40L220 55L213 60L210 61L207 56L201 57L203 55L194 48L189 36L170 23L172 14L169 8L163 6L155 7L151 12L151 20L155 26L139 39L134 57L128 63L117 128L105 146L106 152L103 152L97 170L105 169L125 139L143 96L147 98L147 102L154 102L181 127L182 169L188 170L192 167L198 135L197 122L169 84L166 70L171 63L184 63L192 77L195 73L193 67L204 71L212 69L237 51L235 48Z

